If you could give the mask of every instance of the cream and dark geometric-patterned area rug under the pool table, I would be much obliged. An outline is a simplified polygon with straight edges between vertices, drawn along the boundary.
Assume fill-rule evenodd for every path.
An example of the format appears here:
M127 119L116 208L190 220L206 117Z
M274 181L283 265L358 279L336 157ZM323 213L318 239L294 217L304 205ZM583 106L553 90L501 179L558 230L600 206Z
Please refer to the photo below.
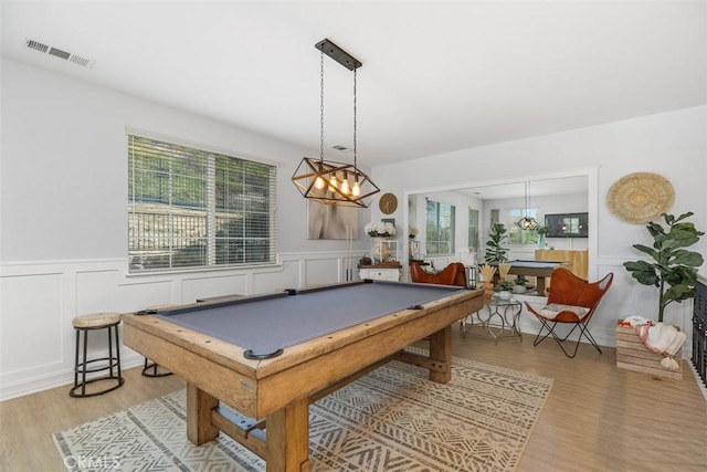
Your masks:
M391 361L309 407L312 471L514 471L552 379L454 358L452 381ZM53 434L72 471L265 471L221 433L187 439L186 390Z

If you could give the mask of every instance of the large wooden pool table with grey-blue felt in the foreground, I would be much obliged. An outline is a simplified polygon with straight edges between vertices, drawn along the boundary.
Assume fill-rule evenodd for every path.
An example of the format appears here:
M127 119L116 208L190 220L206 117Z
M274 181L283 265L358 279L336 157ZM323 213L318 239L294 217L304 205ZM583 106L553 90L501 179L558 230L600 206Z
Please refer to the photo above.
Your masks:
M482 306L483 291L367 280L126 314L124 342L187 381L191 442L223 431L268 471L306 471L309 403L391 359L447 382L451 324ZM429 357L403 350L426 336Z

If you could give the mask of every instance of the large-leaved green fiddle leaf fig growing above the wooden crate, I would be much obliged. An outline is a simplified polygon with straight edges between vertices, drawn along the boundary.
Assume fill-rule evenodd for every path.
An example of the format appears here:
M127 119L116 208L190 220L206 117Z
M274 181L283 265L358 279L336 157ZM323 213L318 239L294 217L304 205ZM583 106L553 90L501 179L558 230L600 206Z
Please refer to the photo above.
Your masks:
M665 307L673 302L682 303L695 296L697 269L703 265L704 258L689 248L704 235L695 224L684 221L692 217L692 211L679 217L663 213L665 227L651 221L646 224L653 238L653 247L633 244L635 249L648 254L653 261L629 261L623 265L631 275L643 285L658 289L658 322L663 322Z

